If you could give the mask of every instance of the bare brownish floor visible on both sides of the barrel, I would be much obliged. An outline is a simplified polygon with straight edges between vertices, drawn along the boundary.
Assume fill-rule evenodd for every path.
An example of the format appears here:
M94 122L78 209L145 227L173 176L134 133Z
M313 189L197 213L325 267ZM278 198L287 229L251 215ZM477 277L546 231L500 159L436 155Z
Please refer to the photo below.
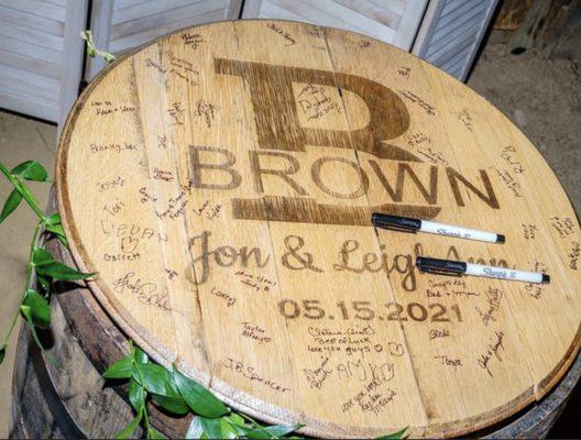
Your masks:
M581 212L580 70L574 62L546 61L535 53L511 56L506 55L502 43L489 43L469 81L537 145L561 179L578 212ZM53 174L55 150L56 127L0 111L0 161L9 167L35 158ZM48 185L34 185L34 189L44 206ZM1 204L9 190L9 184L0 177ZM34 224L34 215L22 206L0 226L0 298L3 298L0 337L7 331L20 301ZM8 433L14 340L12 338L7 360L0 367L0 438ZM577 404L570 405L571 408L578 407L579 393L574 399ZM567 415L563 420L568 420ZM580 424L575 421L574 425ZM557 429L555 436L579 437L579 428L573 429L574 432L567 427L559 432Z

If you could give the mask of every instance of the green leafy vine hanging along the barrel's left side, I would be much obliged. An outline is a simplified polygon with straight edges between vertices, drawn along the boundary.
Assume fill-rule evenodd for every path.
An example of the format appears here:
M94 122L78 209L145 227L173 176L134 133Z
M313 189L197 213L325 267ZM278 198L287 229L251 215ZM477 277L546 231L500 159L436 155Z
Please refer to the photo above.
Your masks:
M2 223L12 212L17 210L22 200L34 211L39 218L34 234L30 244L29 262L26 265L26 279L22 289L22 299L18 310L12 318L10 329L0 344L0 363L3 362L8 341L12 334L18 317L22 316L26 326L30 328L32 337L36 344L43 349L41 340L37 336L36 329L45 329L51 324L51 307L48 300L52 294L53 283L55 280L79 280L86 279L94 274L84 274L69 267L58 261L55 261L53 255L45 249L39 248L37 241L43 232L47 232L56 237L64 245L67 245L65 231L61 223L61 216L54 213L46 216L39 201L26 186L25 182L50 182L46 169L35 161L26 161L17 165L12 169L8 169L4 164L0 162L0 172L8 178L14 189L8 196L7 201L0 212L0 223ZM34 276L39 280L39 289L33 285ZM44 349L43 349L44 350Z

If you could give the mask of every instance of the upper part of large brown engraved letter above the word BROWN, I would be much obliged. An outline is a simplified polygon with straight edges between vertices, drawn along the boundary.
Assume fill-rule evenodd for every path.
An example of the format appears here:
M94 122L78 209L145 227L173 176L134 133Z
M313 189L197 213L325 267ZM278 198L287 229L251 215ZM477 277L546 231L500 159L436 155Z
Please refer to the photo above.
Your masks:
M419 161L414 154L384 141L405 133L409 113L388 88L357 75L264 63L215 58L216 73L234 75L248 82L261 148L304 152L305 145L357 148L380 158ZM339 87L357 94L370 112L363 129L322 130L300 127L293 82Z

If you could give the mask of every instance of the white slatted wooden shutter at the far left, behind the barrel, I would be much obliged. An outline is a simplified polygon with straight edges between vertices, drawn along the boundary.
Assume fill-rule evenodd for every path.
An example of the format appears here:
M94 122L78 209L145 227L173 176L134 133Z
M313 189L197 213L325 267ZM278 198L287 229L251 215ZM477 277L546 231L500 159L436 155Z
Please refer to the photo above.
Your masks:
M87 4L0 0L0 106L55 122L68 111L83 69Z

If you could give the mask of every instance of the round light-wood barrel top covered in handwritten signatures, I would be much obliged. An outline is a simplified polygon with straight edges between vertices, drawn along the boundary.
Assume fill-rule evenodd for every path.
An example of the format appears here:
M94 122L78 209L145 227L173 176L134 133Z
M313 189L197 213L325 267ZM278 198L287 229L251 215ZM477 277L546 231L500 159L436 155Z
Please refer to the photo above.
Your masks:
M370 37L213 23L121 57L63 130L59 210L91 292L157 362L321 437L452 437L545 395L580 343L557 177L468 87ZM376 230L388 212L504 244ZM419 273L416 256L550 274Z

